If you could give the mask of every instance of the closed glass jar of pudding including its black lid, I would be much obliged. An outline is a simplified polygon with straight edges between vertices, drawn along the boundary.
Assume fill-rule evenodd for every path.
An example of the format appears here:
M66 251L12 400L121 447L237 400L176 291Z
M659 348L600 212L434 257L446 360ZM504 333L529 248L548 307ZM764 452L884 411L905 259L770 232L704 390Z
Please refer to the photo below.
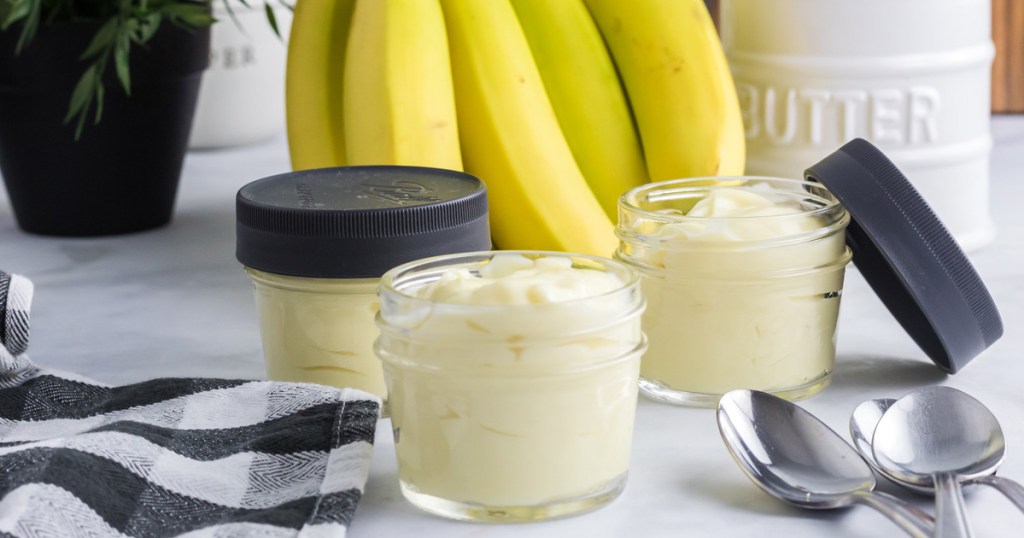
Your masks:
M267 377L387 391L377 288L387 270L490 247L486 190L469 174L413 166L301 170L237 199L238 258L256 290Z

